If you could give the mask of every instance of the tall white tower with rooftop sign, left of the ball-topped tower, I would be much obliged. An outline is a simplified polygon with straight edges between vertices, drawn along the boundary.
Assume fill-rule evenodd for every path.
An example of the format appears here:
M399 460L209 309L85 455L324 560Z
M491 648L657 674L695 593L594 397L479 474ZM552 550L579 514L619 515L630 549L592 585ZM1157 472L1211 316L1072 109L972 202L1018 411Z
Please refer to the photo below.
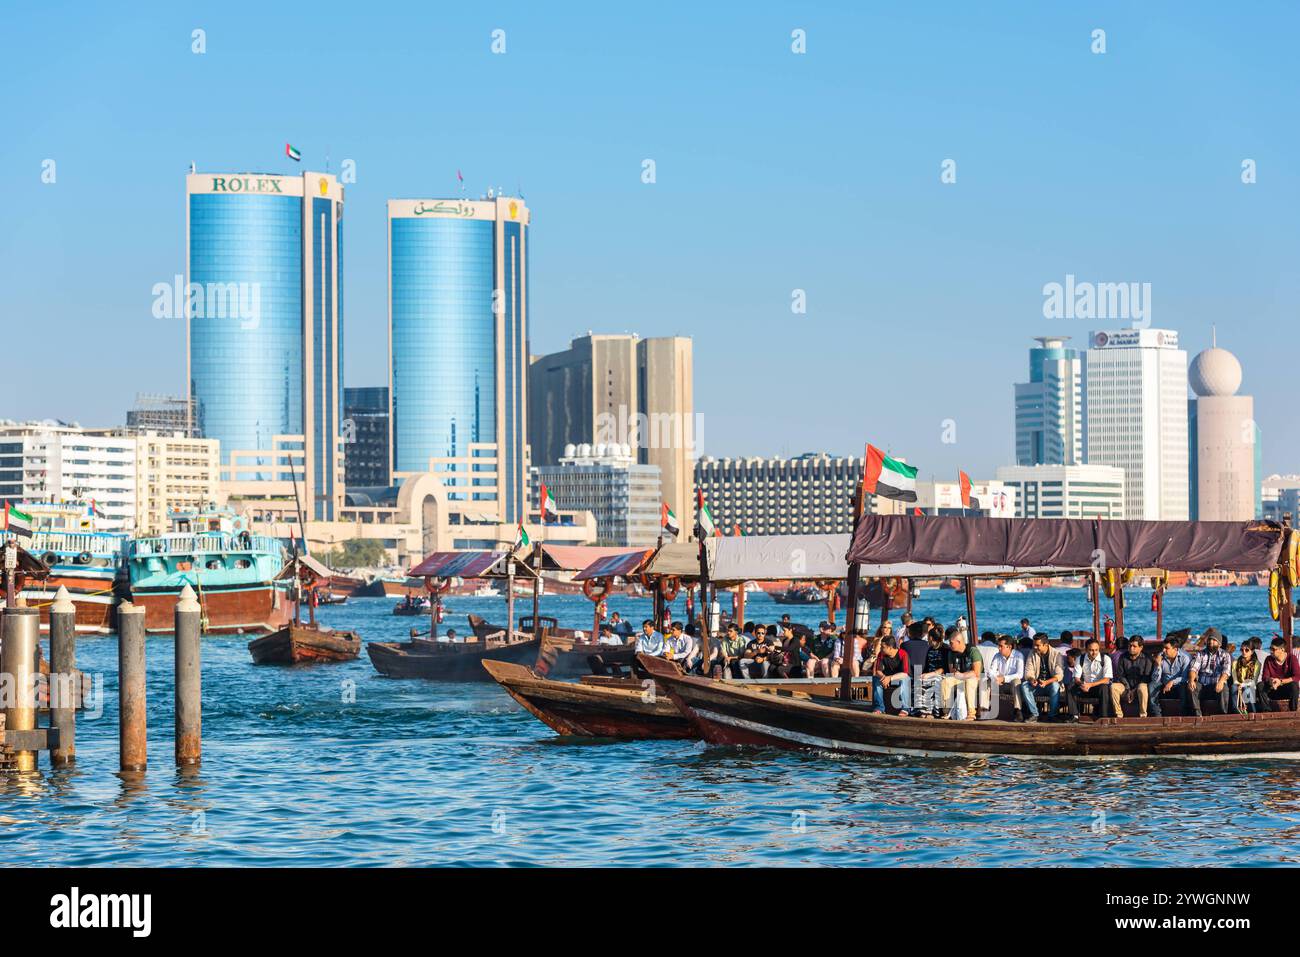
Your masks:
M1187 352L1169 329L1092 333L1084 459L1124 472L1124 518L1188 518Z

